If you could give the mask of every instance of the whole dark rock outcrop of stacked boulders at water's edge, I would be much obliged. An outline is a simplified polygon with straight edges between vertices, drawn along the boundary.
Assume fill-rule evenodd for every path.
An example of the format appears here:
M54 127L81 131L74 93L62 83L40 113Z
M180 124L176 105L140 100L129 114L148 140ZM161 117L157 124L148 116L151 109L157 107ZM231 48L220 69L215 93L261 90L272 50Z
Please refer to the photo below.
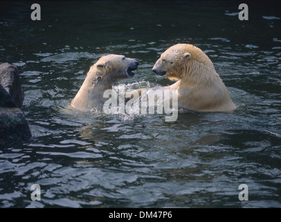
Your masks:
M0 148L29 142L30 128L20 109L24 101L15 65L0 65Z

